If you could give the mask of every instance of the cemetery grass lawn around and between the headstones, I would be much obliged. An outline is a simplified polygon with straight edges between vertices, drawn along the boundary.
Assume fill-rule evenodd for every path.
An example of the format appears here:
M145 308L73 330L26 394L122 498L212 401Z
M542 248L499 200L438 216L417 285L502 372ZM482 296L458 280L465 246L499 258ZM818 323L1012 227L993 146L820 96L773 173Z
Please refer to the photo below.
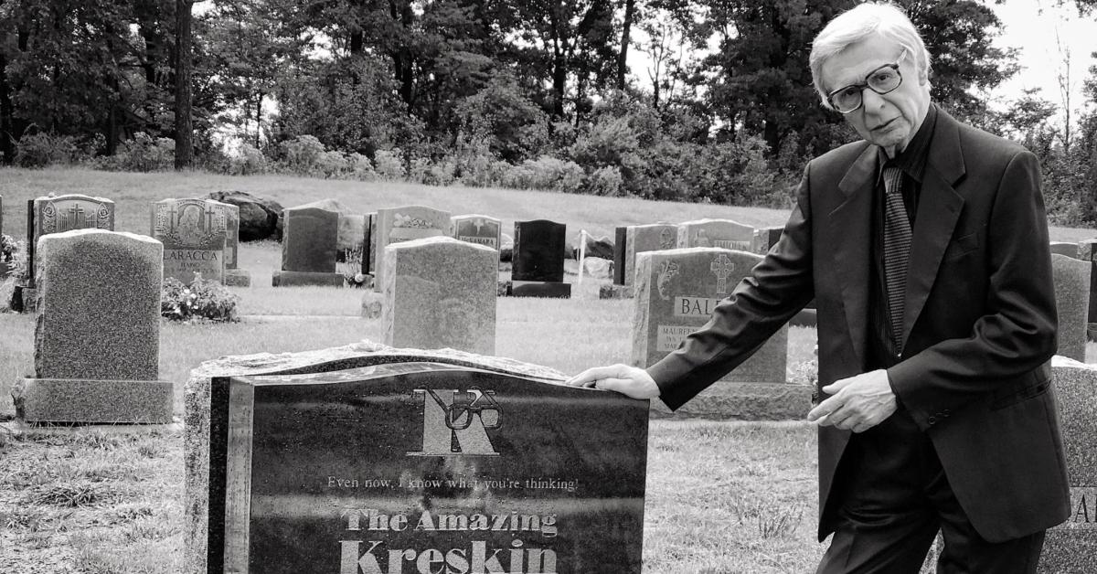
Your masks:
M110 173L82 169L0 169L4 233L25 235L27 199L81 192L113 199L117 230L148 233L148 205L165 198L238 189L285 206L333 198L361 212L422 203L520 220L567 223L612 236L619 225L728 217L779 225L787 212L719 205L562 195L532 191L432 188L284 176ZM1087 229L1055 228L1077 240ZM252 286L240 323L161 323L160 378L182 409L188 373L228 354L283 352L381 340L380 319L359 318L362 292L270 286L280 261L273 243L245 244L240 266ZM574 269L574 263L573 263ZM573 283L577 278L568 278ZM572 300L500 299L496 352L574 373L629 357L632 301L597 299L586 279ZM790 376L811 371L814 329L789 336ZM1095 348L1090 345L1089 356ZM34 317L0 314L0 413L11 383L34 370ZM5 408L7 406L7 408ZM811 425L654 420L648 442L644 563L649 573L800 573L813 571L816 439ZM182 436L86 434L22 438L0 430L0 573L176 573L182 569Z

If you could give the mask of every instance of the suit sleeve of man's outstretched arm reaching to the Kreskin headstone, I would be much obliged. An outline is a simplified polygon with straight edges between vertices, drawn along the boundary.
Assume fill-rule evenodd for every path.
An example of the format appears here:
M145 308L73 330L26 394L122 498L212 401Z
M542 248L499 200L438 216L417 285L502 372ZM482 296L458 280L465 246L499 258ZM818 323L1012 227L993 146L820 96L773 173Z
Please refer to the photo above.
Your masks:
M751 277L716 305L708 324L647 368L671 409L747 360L812 300L810 170L811 164L781 238Z

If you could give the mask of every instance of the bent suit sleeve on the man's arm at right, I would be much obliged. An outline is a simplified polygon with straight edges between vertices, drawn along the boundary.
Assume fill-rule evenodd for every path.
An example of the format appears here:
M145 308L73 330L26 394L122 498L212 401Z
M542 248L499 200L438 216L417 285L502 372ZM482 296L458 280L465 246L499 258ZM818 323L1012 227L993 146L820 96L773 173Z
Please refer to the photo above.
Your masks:
M942 340L887 370L923 429L935 414L1036 370L1055 352L1055 292L1036 156L1014 156L996 193L987 222L986 313L969 337Z

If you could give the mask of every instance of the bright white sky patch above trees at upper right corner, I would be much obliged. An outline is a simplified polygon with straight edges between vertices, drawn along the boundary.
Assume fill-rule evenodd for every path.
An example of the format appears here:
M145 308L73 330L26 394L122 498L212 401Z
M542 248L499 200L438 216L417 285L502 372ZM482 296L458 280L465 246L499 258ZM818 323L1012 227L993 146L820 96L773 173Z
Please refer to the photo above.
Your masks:
M1013 100L1020 97L1025 89L1042 88L1040 97L1062 108L1058 76L1068 69L1071 108L1083 110L1082 82L1089 74L1089 66L1097 64L1097 59L1090 57L1097 52L1097 11L1088 16L1078 16L1073 1L1062 7L1056 0L986 3L1002 20L1002 35L994 44L1020 48L1018 64L1022 67L1017 76L992 91L992 97ZM1063 61L1064 50L1070 52L1068 68Z

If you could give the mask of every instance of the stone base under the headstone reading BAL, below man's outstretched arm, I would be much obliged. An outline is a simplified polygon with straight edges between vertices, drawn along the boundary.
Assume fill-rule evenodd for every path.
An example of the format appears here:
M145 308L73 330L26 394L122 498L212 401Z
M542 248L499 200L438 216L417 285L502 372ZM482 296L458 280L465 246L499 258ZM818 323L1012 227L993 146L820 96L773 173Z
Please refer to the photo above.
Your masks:
M719 381L671 412L652 401L655 418L712 418L723 420L802 420L812 408L811 385L792 383L737 383Z

